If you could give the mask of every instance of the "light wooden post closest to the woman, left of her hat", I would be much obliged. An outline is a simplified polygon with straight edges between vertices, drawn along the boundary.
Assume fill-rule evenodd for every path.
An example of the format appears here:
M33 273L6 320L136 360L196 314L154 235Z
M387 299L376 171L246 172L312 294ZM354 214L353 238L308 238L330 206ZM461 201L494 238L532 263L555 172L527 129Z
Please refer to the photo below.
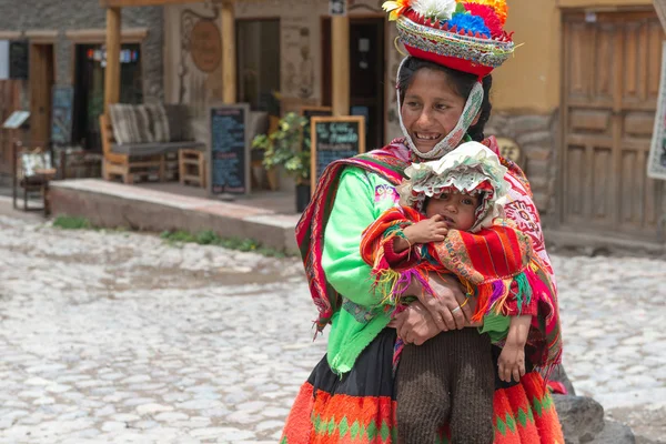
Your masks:
M333 46L333 115L350 113L350 18L331 18L331 42Z

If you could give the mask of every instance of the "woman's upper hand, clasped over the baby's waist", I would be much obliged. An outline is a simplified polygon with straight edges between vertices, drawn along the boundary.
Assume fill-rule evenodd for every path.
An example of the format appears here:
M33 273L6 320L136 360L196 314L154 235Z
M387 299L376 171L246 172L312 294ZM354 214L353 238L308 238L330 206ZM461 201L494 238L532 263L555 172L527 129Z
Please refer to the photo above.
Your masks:
M473 301L467 300L457 279L431 275L427 283L435 294L422 291L416 296L441 331L461 330L472 324Z

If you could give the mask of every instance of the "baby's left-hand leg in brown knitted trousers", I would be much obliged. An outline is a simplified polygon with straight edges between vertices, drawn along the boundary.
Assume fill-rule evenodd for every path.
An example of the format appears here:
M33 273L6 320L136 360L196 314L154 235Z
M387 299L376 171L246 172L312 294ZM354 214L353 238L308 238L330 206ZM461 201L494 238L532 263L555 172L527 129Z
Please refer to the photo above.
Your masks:
M403 349L396 375L400 444L437 442L437 431L451 411L450 349L448 333Z

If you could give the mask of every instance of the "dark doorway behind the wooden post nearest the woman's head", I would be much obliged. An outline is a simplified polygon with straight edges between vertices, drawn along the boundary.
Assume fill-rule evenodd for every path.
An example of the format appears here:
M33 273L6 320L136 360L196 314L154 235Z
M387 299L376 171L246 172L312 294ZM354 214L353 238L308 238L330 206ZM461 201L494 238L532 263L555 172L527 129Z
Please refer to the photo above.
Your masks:
M365 117L365 147L384 141L385 19L350 18L350 114ZM322 104L332 103L331 19L322 20Z

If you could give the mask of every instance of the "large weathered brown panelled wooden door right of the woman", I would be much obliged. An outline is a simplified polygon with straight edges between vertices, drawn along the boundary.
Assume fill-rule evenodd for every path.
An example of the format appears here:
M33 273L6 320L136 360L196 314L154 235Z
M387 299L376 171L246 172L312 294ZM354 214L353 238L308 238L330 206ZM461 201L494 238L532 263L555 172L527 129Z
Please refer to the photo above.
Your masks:
M563 228L656 241L663 181L646 175L664 33L654 11L564 16Z

